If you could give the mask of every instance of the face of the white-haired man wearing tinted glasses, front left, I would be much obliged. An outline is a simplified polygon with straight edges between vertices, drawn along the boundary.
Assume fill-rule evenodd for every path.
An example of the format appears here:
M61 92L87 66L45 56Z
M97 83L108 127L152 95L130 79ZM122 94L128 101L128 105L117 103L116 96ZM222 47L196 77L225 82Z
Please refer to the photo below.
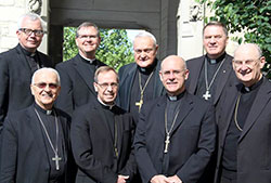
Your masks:
M30 88L36 103L43 109L52 108L61 90L57 76L51 70L37 73Z

